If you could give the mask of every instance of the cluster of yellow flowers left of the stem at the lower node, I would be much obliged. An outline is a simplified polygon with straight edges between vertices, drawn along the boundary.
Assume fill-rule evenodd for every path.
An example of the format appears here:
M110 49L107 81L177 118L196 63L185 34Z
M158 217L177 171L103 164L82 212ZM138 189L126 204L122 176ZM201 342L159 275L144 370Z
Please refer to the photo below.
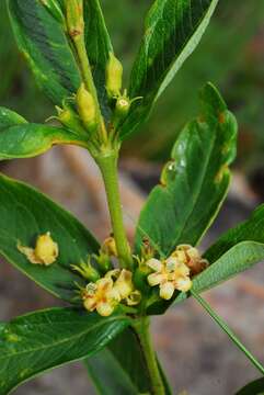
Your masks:
M140 303L140 292L135 290L133 273L114 269L96 282L90 282L81 292L83 305L89 312L96 311L101 316L110 316L120 303L135 306Z

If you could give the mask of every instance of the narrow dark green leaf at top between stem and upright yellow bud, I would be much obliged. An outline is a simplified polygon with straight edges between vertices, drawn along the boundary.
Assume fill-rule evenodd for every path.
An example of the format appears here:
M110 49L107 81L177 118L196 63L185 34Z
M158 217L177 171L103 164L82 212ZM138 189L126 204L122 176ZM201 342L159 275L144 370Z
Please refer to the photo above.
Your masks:
M105 90L105 68L113 47L99 0L84 1L84 21L87 53L97 88L99 100L104 115L107 116L108 100Z

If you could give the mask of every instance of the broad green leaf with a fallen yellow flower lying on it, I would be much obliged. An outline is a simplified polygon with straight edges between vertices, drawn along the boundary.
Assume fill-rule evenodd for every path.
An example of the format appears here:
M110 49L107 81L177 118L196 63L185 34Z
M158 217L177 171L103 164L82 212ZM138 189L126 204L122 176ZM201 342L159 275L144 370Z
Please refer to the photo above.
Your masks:
M18 242L34 247L36 237L47 232L59 246L59 257L49 267L33 264ZM97 241L70 213L26 184L0 176L0 253L38 285L72 302L76 283L83 285L83 280L70 264L85 261L97 249Z

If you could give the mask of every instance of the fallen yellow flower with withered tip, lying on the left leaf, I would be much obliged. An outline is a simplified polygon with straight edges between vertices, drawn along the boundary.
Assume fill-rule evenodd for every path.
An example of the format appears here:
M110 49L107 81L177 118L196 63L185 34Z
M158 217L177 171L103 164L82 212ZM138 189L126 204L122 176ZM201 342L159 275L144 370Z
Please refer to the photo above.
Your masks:
M56 261L59 255L58 245L53 240L49 232L37 237L35 249L22 246L20 241L18 249L34 264L49 266Z

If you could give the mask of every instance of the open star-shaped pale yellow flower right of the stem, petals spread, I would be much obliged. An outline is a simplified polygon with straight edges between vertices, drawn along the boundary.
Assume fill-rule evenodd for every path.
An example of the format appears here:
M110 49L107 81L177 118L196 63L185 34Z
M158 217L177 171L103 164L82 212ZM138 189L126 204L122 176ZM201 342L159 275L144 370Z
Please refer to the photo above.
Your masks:
M187 292L192 287L188 267L175 257L164 261L150 259L147 266L154 271L148 275L148 283L151 286L159 285L160 297L169 301L175 290Z

